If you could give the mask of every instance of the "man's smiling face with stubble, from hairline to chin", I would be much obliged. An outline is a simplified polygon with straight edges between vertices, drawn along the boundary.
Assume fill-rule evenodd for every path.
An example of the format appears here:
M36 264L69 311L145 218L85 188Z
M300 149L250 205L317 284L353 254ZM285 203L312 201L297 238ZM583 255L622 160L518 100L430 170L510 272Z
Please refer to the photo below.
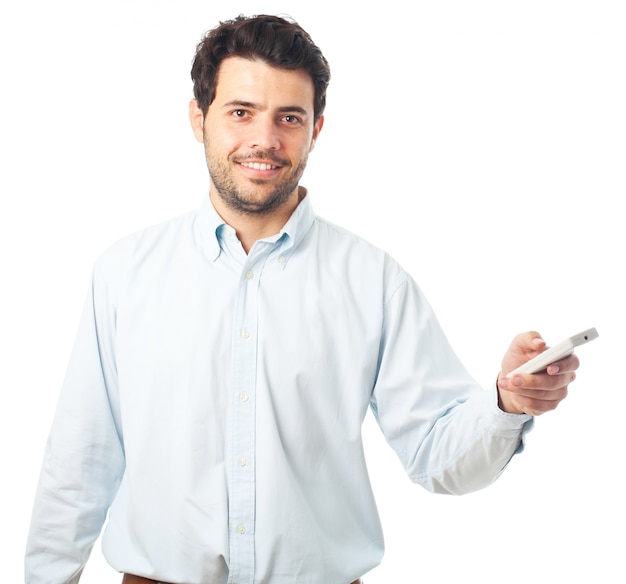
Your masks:
M304 70L224 60L201 135L212 194L231 210L257 215L297 200L323 123L313 121L313 100L313 81ZM200 139L200 129L194 131Z

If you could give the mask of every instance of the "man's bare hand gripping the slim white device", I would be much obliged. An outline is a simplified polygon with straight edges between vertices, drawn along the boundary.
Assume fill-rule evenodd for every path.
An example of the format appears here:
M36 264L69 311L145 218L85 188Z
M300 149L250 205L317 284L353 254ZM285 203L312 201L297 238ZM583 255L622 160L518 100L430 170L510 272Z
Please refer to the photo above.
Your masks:
M576 379L578 357L569 357L553 363L534 374L516 374L512 379L506 374L546 350L545 341L537 332L517 335L502 359L502 372L498 376L498 404L512 414L539 416L555 409L567 397L567 388Z

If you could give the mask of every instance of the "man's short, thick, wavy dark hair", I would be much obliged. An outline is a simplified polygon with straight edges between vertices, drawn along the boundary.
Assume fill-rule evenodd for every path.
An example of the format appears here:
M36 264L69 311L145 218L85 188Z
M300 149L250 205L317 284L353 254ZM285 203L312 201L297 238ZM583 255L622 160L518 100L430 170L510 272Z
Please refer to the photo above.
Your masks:
M282 69L304 69L315 88L315 120L324 112L330 67L309 34L294 20L240 15L220 22L196 47L191 79L194 96L204 115L215 99L219 67L224 59L233 56L261 59Z

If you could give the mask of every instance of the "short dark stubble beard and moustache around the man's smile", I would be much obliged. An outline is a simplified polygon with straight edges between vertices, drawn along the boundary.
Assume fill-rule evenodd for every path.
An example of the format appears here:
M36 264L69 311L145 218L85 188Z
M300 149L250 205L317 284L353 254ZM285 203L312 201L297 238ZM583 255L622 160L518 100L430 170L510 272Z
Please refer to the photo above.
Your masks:
M273 152L260 150L248 157L231 154L224 162L219 155L211 152L206 136L204 144L209 175L218 195L230 209L245 215L269 215L284 205L298 188L306 167L307 156L291 167L289 161ZM288 172L272 186L263 179L250 179L247 185L239 184L232 170L233 165L253 158L271 161L282 168L288 167Z

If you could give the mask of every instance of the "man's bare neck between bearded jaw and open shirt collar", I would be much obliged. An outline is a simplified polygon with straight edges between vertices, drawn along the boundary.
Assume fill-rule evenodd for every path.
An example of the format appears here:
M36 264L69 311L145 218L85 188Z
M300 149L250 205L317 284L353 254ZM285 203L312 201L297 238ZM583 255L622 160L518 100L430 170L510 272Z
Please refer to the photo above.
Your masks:
M209 193L218 215L236 232L246 253L259 239L278 233L289 220L300 201L306 196L306 189L298 187L283 205L271 213L246 213L226 205L215 188Z

